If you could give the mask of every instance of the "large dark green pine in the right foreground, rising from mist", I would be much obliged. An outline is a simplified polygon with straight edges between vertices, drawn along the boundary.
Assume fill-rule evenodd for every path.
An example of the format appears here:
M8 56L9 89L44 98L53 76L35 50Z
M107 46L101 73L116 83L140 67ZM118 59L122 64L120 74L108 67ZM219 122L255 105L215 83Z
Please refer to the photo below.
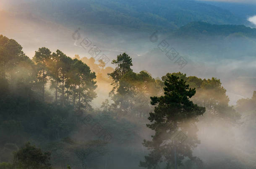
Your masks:
M164 162L166 169L170 169L174 163L174 152L177 149L178 164L184 157L195 159L192 149L200 143L197 139L197 127L195 123L198 116L205 112L204 107L197 106L190 98L195 95L195 88L177 76L167 76L165 81L165 95L151 97L151 104L156 106L154 112L149 114L147 127L155 131L152 141L144 140L143 145L151 150L145 161L140 162L141 167L156 169ZM172 138L177 131L182 131L188 139L183 143L177 143Z

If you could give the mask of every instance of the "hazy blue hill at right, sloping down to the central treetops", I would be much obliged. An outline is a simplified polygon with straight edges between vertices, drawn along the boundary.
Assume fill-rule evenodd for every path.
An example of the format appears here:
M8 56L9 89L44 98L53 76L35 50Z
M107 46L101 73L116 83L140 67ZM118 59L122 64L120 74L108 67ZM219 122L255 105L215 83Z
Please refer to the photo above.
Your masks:
M231 64L229 62L233 62L231 68L239 67L239 70L236 71L243 74L245 70L240 70L243 69L243 61L251 61L251 63L255 61L256 29L243 25L189 23L173 31L169 36L159 38L154 48L133 60L135 63L141 63L139 68L145 69L148 66L154 69L152 72L160 72L160 70L174 72L178 70L175 61L179 57L176 54L171 55L169 51L172 48L178 53L178 56L183 56L188 62L189 66L184 68L185 71L193 72L198 69L198 66L204 67L204 71L209 71L208 67L204 66L205 63L211 63L211 68L215 69L218 64L225 65L224 63ZM169 58L173 57L173 60L167 57L167 53ZM234 61L239 62L236 63L238 65ZM255 66L246 69L253 71L253 68Z

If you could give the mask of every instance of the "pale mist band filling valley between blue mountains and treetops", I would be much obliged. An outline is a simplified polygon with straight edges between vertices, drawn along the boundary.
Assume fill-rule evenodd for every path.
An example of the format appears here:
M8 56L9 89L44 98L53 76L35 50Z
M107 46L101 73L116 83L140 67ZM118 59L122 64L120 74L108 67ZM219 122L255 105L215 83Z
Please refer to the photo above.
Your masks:
M88 53L89 48L85 49L80 44L84 38L88 38L92 45L96 45L102 53L107 55L109 58L107 66L112 66L111 60L116 55L126 52L137 63L133 66L136 72L147 70L154 77L160 77L170 71L182 71L188 75L195 75L201 78L210 78L212 76L220 78L228 93L232 94L232 101L230 102L232 105L239 99L239 97L233 97L237 95L249 97L252 91L256 90L254 81L250 80L255 78L253 73L255 68L253 51L239 46L241 43L240 38L233 38L233 45L228 47L233 48L233 50L240 50L239 52L242 57L235 56L234 58L234 54L237 51L232 52L232 50L226 50L223 51L225 54L222 53L221 56L218 54L219 45L215 45L220 43L218 41L212 41L212 43L208 44L207 48L212 49L211 53L207 53L209 50L201 46L201 44L205 43L205 40L188 40L187 43L185 42L185 44L190 44L188 46L184 45L184 40L177 38L172 40L172 38L168 38L168 34L159 32L157 34L157 42L152 42L150 37L154 32L118 33L118 31L115 32L108 28L102 28L101 33L91 32L81 28L79 30L81 38L74 40L73 34L78 29L76 27L66 28L65 26L47 22L33 15L18 16L7 12L2 13L0 22L4 26L1 27L2 29L0 28L0 31L10 38L17 39L23 46L24 52L30 58L34 56L34 50L42 46L47 46L52 50L60 49L71 57L78 54L80 57L90 58L91 55ZM107 34L103 32L107 32ZM184 68L180 69L180 66L174 63L175 61L171 61L164 52L159 50L159 44L165 39L167 39L170 47L175 48L179 55L184 56L188 61ZM204 48L204 51L200 52L200 48ZM216 48L215 54L214 48ZM251 46L251 49L253 49L253 46ZM237 79L247 77L248 80L246 81L239 81ZM234 81L238 81L237 83L239 85L234 85Z

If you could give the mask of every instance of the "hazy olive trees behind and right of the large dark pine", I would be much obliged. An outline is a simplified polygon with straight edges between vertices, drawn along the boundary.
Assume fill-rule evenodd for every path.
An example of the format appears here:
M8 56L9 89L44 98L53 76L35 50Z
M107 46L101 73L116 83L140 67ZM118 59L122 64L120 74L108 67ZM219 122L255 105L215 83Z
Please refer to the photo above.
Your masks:
M228 105L229 98L226 95L226 89L217 78L201 79L196 76L186 76L183 73L167 73L162 77L162 80L167 79L167 76L178 76L186 81L189 86L196 88L196 94L192 101L199 106L206 108L205 116L209 119L209 123L215 120L228 120L233 123L240 119L240 114L234 108Z

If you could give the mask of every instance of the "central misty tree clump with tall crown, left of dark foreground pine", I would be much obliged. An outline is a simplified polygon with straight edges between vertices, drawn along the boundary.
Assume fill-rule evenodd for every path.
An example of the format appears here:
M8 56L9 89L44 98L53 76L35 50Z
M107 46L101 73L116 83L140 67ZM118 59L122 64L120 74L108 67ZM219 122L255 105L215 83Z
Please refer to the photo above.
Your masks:
M118 55L112 64L117 67L109 76L112 77L112 91L109 93L112 101L112 109L119 114L125 114L133 120L146 120L151 111L150 96L158 95L163 87L160 81L156 81L146 72L134 73L131 69L132 60L126 53ZM105 108L108 103L102 105Z

